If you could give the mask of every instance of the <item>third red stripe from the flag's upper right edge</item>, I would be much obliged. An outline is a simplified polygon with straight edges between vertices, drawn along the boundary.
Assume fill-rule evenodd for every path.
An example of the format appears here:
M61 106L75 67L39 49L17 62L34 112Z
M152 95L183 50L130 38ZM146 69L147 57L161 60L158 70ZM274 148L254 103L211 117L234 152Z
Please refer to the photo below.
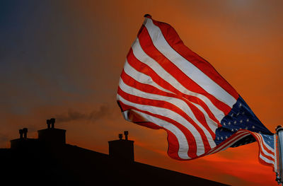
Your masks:
M159 86L167 89L168 91L176 93L176 95L183 97L192 103L196 103L200 105L207 112L207 114L209 115L209 118L212 119L214 122L216 122L219 127L221 127L220 122L216 119L216 117L214 117L212 111L209 110L209 107L207 107L207 105L200 98L181 93L180 91L178 91L178 89L171 86L170 83L168 83L167 81L164 81L160 76L158 76L158 74L156 74L156 72L153 69L151 69L146 64L141 63L136 57L134 57L132 48L131 50L129 50L129 53L127 54L127 62L137 71L143 74L146 74L147 76L150 76L151 79L153 79L153 81L156 82Z

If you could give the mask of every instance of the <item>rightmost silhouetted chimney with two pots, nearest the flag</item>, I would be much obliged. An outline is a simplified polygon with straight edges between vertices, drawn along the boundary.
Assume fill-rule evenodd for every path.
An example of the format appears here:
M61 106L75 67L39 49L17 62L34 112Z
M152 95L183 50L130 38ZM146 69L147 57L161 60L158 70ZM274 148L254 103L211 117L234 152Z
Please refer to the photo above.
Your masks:
M125 131L125 139L123 134L119 134L119 139L108 141L109 156L117 161L133 162L134 161L134 141L128 139L129 132Z

